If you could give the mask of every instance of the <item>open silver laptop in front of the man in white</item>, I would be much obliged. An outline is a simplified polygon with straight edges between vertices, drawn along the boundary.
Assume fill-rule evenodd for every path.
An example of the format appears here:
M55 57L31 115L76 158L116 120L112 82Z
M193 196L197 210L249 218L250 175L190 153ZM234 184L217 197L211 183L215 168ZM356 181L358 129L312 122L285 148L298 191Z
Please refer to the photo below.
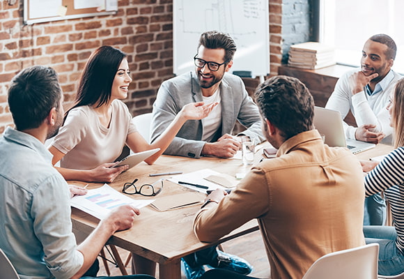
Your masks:
M325 135L325 144L328 146L347 147L354 154L376 146L369 142L345 139L341 114L335 110L314 107L313 124L320 134Z

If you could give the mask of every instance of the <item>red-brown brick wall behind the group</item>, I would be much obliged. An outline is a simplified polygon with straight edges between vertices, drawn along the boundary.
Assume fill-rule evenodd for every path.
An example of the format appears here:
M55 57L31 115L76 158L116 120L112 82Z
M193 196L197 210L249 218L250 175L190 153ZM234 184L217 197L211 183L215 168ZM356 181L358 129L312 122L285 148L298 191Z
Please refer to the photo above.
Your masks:
M116 15L33 25L22 23L22 0L8 2L0 1L0 133L13 123L8 84L29 66L52 66L59 73L69 107L91 52L100 45L118 47L128 54L133 74L125 100L133 116L150 112L160 84L173 76L172 0L119 0ZM270 0L269 8L270 70L276 75L282 57L282 0Z

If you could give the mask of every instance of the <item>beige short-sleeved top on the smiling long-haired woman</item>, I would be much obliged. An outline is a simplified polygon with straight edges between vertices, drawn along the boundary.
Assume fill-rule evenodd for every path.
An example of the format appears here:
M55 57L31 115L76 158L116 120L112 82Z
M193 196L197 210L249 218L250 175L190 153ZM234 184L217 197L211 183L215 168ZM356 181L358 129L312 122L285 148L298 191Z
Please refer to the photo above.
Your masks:
M102 126L93 107L85 105L71 110L52 142L65 153L61 167L93 169L114 162L122 153L127 135L137 132L131 120L132 115L121 100L111 103L109 128Z

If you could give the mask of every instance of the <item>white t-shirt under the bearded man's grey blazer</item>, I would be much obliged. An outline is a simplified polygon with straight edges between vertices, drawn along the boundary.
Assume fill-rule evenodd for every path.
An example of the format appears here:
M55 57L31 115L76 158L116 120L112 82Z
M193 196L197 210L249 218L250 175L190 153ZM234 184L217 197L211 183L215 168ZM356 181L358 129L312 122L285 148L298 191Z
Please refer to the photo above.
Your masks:
M220 98L220 91L217 89L215 93L213 93L210 97L202 96L203 102L206 105L210 103L219 103L216 107L213 108L212 112L202 119L203 124L203 135L202 140L205 142L210 142L212 137L217 132L217 129L222 125L222 103L220 102L222 99Z

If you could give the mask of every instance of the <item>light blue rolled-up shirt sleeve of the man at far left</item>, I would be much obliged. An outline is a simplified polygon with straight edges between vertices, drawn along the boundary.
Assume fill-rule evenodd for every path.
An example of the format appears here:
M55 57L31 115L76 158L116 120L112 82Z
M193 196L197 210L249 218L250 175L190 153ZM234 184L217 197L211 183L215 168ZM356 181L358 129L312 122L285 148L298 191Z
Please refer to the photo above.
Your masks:
M49 176L33 194L33 228L42 243L47 267L56 278L71 278L84 257L77 250L70 219L70 193L59 176Z

